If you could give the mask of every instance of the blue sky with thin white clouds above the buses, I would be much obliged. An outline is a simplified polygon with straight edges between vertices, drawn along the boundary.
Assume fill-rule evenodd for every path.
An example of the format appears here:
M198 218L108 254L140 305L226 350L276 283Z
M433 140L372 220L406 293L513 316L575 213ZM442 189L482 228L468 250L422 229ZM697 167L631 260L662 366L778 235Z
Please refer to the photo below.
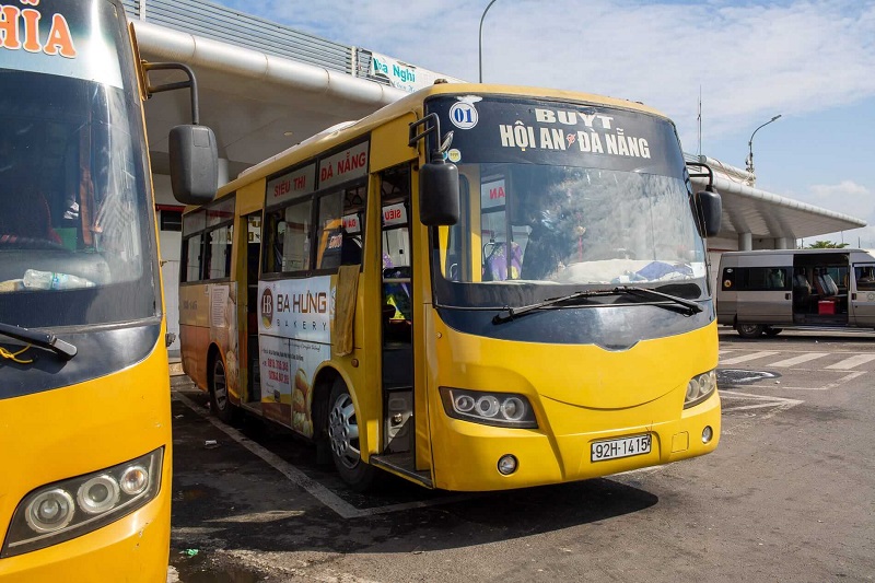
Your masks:
M875 248L875 0L213 0L454 78L656 107L684 150L866 221ZM701 133L699 101L701 96ZM699 147L701 140L701 149Z

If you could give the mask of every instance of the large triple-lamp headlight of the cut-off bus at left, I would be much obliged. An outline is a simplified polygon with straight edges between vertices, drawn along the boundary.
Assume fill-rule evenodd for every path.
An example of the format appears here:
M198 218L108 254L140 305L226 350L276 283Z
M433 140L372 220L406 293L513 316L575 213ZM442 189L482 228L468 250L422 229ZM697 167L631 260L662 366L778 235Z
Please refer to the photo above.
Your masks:
M0 558L57 545L96 530L154 499L164 448L136 459L37 488L12 515Z

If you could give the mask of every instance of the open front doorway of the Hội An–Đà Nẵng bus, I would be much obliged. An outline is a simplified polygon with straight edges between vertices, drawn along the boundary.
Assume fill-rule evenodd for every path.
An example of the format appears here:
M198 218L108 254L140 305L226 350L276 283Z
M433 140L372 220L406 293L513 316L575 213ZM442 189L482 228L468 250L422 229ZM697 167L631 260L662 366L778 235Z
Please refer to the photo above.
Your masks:
M413 269L410 245L410 166L380 174L382 209L383 455L377 464L420 481L416 473L413 420ZM425 473L423 473L425 474Z

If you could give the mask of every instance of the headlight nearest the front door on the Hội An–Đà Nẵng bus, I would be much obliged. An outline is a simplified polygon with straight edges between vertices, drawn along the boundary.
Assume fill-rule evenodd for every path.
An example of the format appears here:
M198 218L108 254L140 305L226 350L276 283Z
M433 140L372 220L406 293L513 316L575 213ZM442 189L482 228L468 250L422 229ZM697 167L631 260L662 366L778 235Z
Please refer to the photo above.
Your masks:
M515 393L488 393L441 387L446 415L486 425L534 429L538 427L528 399Z

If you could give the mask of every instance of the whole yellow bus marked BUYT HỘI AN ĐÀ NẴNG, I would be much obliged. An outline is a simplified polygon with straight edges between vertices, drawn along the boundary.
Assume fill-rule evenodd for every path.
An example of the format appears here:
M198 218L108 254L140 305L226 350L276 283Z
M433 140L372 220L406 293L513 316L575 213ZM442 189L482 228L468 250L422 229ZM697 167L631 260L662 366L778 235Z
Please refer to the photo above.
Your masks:
M430 488L558 483L711 452L718 334L674 125L637 103L439 83L183 218L180 340L243 409Z

